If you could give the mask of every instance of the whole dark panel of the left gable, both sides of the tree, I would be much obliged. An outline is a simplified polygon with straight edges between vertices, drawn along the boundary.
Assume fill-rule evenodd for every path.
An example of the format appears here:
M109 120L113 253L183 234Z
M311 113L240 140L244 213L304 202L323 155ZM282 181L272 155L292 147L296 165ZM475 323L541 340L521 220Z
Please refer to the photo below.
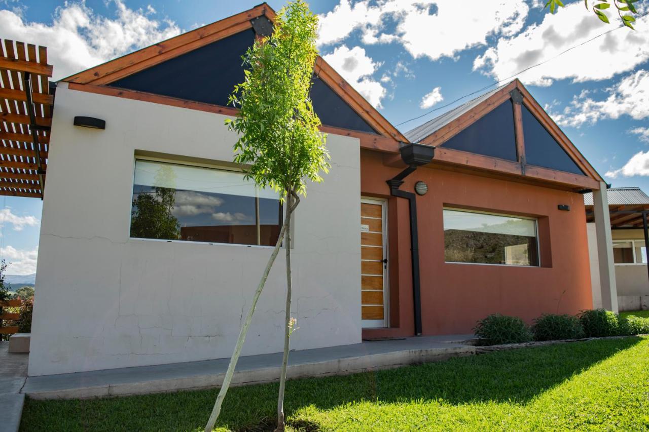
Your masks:
M188 101L228 105L234 86L243 82L241 56L254 41L254 30L244 30L228 38L197 48L166 62L121 78L110 86L177 97ZM311 89L313 110L323 125L375 134L322 80L315 78Z

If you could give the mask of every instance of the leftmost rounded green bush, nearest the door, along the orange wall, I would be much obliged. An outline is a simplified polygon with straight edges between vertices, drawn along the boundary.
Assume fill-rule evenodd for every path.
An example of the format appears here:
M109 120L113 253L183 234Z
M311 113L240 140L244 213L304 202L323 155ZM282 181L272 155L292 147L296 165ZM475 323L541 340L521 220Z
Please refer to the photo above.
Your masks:
M530 342L532 330L519 317L508 317L495 313L479 320L473 329L482 344L499 345Z

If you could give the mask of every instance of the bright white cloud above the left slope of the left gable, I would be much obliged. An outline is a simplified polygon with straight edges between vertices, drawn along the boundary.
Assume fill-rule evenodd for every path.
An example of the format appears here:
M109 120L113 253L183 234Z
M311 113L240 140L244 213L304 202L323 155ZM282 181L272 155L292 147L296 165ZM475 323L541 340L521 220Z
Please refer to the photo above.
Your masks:
M0 10L0 36L47 47L53 78L60 79L180 33L172 21L150 18L153 8L133 10L123 0L112 1L114 18L75 1L56 8L51 25L25 22L16 10Z

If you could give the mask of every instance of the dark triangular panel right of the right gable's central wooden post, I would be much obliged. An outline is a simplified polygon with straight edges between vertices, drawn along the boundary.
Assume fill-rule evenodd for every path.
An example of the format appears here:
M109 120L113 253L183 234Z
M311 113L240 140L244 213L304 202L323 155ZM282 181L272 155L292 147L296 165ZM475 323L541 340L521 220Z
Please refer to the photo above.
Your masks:
M522 105L525 162L530 165L585 175L580 167L550 135L541 122Z

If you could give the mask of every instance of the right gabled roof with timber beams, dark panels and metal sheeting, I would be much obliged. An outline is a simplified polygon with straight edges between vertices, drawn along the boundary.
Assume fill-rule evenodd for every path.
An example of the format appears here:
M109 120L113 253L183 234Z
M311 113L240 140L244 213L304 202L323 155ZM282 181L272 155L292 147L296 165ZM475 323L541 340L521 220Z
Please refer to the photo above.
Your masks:
M441 166L463 165L573 191L599 189L604 181L518 79L405 135L434 146L433 163Z

